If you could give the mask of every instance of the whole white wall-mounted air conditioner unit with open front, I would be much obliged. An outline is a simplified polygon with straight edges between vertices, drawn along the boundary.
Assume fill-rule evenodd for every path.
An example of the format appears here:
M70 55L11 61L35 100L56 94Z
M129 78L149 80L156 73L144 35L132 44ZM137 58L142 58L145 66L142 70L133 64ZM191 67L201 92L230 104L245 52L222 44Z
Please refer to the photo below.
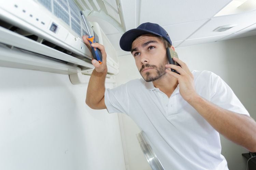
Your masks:
M117 54L99 24L89 32L105 46L108 77L119 72ZM91 74L91 52L80 9L73 0L8 0L0 3L0 66L61 74Z

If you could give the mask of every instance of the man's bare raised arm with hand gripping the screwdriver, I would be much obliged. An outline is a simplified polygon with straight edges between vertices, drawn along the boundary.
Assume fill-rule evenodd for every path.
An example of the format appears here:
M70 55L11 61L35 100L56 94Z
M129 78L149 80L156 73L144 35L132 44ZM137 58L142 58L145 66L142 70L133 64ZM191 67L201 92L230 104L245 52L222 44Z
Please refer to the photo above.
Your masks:
M83 36L83 40L86 46L91 49L89 41L86 39L86 36ZM106 105L104 102L104 94L105 94L105 79L107 74L107 66L106 66L106 52L104 46L98 43L91 44L92 47L98 48L102 54L102 64L97 60L92 60L91 63L94 65L95 69L91 74L87 92L86 92L86 100L85 103L92 109L105 109Z

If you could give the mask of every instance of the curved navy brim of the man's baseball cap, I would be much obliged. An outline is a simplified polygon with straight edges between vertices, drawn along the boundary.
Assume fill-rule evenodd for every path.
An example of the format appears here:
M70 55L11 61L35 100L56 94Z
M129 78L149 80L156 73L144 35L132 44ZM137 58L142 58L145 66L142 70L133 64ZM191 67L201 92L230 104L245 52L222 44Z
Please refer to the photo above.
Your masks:
M122 35L122 37L120 38L119 45L122 50L131 51L131 44L132 44L133 40L142 34L148 34L148 33L155 34L155 35L162 37L162 35L157 34L153 31L136 28L136 29L132 29L132 30L125 32Z

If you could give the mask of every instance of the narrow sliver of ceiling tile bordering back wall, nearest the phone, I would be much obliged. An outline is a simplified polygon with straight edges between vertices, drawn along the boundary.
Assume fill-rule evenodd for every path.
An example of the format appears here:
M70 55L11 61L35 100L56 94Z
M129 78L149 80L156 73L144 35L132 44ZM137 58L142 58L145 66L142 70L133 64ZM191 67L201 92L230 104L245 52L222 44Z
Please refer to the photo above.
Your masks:
M217 40L219 40L219 39L221 39L223 37L226 37L228 35L229 34L219 35L219 36L212 36L212 37L189 39L189 40L185 40L178 47L192 46L192 45L204 44L204 43L211 43L211 42L217 41Z

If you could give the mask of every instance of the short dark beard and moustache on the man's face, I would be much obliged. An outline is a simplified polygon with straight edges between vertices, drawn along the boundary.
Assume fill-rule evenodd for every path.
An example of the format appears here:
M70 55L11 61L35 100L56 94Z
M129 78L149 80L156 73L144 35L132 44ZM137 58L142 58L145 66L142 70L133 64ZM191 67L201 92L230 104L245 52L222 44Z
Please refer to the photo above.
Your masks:
M159 64L159 66L157 67L156 65L150 65L150 64L143 64L141 69L140 69L140 74L142 76L142 78L146 81L146 82L152 82L152 81L155 81L155 80L158 80L158 79L161 79L163 77L163 75L166 74L166 68L165 68L165 65L168 64L168 60L166 58L166 60L164 60L161 64ZM146 72L146 76L143 77L142 75L142 70L145 68L145 67L151 67L151 68L154 68L156 69L156 75L153 76L152 73L150 72Z

